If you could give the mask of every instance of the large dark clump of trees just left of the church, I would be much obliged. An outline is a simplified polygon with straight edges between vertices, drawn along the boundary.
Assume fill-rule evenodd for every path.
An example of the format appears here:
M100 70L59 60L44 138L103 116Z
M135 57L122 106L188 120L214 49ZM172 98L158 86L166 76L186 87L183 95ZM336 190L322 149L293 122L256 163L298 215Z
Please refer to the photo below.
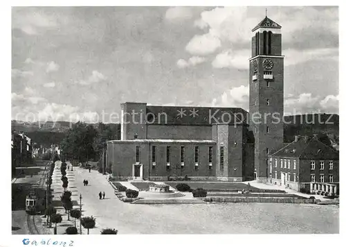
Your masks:
M64 156L69 160L99 160L102 157L107 140L120 139L119 124L98 123L95 128L78 121L69 129L62 140L61 147Z

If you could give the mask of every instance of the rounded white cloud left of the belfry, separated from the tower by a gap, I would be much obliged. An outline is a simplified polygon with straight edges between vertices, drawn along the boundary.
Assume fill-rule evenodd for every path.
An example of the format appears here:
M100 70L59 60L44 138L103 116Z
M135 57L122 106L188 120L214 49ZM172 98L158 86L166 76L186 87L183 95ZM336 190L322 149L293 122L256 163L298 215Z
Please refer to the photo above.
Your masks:
M207 33L204 35L194 35L188 42L185 50L194 55L208 55L213 53L221 46L219 37Z

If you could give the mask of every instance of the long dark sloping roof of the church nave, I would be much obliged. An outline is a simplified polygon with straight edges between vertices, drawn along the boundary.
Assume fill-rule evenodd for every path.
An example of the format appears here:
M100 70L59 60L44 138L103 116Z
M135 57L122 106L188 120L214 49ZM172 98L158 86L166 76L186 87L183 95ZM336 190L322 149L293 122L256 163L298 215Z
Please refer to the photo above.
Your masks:
M148 124L243 124L246 123L247 114L242 108L147 105Z

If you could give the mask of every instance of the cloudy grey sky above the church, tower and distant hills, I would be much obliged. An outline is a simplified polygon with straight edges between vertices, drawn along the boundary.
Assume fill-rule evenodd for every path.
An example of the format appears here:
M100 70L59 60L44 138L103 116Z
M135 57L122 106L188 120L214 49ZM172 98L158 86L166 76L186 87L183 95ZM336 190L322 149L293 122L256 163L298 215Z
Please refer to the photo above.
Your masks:
M285 114L338 113L338 7L267 8L282 26ZM248 110L251 29L265 11L12 8L12 119L97 122L127 101Z

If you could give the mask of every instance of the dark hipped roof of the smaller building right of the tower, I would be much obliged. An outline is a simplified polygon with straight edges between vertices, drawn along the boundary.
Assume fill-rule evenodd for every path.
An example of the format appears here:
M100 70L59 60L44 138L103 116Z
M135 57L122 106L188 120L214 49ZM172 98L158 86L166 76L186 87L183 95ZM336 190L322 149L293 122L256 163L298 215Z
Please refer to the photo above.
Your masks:
M338 160L339 153L314 137L302 137L297 142L284 145L279 151L271 154L275 157L297 157L302 160L330 159Z

